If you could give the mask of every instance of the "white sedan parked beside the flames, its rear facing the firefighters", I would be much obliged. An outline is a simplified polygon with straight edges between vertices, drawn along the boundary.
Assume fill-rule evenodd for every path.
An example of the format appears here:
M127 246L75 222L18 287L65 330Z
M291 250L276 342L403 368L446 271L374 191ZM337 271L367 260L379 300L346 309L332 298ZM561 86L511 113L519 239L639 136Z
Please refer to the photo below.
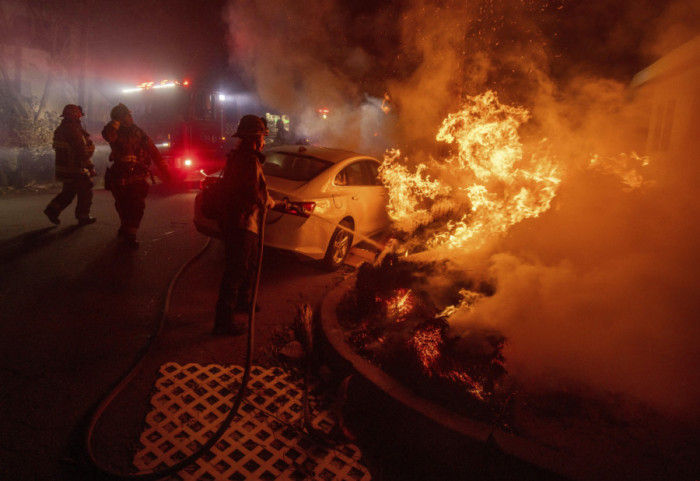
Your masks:
M337 269L351 246L389 226L387 192L377 177L377 159L316 146L275 147L265 156L270 195L289 201L286 208L268 212L266 246ZM219 175L208 175L202 186L218 182ZM202 214L201 194L195 197L194 223L199 232L220 236L216 221Z

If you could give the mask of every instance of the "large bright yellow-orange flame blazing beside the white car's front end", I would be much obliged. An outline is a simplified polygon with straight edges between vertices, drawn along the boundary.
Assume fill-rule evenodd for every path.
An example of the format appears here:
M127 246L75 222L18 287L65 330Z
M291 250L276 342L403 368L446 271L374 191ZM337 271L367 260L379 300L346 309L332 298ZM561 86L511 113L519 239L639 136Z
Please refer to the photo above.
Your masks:
M443 122L436 139L454 147L451 155L431 158L410 173L399 151L387 152L380 175L395 226L411 232L445 211L466 212L457 221L445 220L426 245L475 249L549 209L560 178L546 139L525 155L518 128L528 118L527 110L503 105L488 91L468 98ZM431 178L433 171L449 176Z

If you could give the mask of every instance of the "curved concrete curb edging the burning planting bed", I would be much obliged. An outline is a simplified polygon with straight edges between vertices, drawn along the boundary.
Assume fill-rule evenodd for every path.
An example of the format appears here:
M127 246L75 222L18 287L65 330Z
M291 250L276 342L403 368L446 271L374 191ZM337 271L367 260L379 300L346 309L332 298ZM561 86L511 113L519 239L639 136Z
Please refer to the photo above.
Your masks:
M354 286L355 279L339 284L324 298L321 304L321 327L335 352L347 361L352 369L369 383L393 398L406 408L415 411L430 422L466 438L467 444L483 445L485 449L494 444L501 453L533 465L554 475L567 479L595 479L591 467L581 460L573 459L556 450L507 433L494 426L468 419L414 394L394 378L373 366L355 353L346 343L343 330L336 316L336 307L343 296Z

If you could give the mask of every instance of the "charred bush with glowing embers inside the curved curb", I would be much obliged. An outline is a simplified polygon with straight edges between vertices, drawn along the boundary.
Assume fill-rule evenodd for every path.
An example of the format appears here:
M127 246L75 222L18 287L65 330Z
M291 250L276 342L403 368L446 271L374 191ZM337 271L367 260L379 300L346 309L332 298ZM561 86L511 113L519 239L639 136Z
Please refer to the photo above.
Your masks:
M449 282L435 288L434 276ZM360 267L338 318L348 343L370 362L429 399L495 422L507 397L500 387L506 338L488 327L456 335L447 320L455 305L464 308L493 292L446 263L387 254Z

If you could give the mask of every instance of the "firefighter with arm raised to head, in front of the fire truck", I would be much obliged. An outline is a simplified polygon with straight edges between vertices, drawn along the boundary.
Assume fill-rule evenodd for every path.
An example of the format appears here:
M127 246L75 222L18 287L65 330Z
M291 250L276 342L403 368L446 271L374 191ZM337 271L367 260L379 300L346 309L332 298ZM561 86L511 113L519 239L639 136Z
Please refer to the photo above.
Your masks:
M112 120L102 129L102 137L112 148L109 188L121 221L117 235L135 249L139 246L136 233L146 208L151 162L156 164L164 181L170 180L170 173L153 141L134 124L126 105L120 103L109 116Z

